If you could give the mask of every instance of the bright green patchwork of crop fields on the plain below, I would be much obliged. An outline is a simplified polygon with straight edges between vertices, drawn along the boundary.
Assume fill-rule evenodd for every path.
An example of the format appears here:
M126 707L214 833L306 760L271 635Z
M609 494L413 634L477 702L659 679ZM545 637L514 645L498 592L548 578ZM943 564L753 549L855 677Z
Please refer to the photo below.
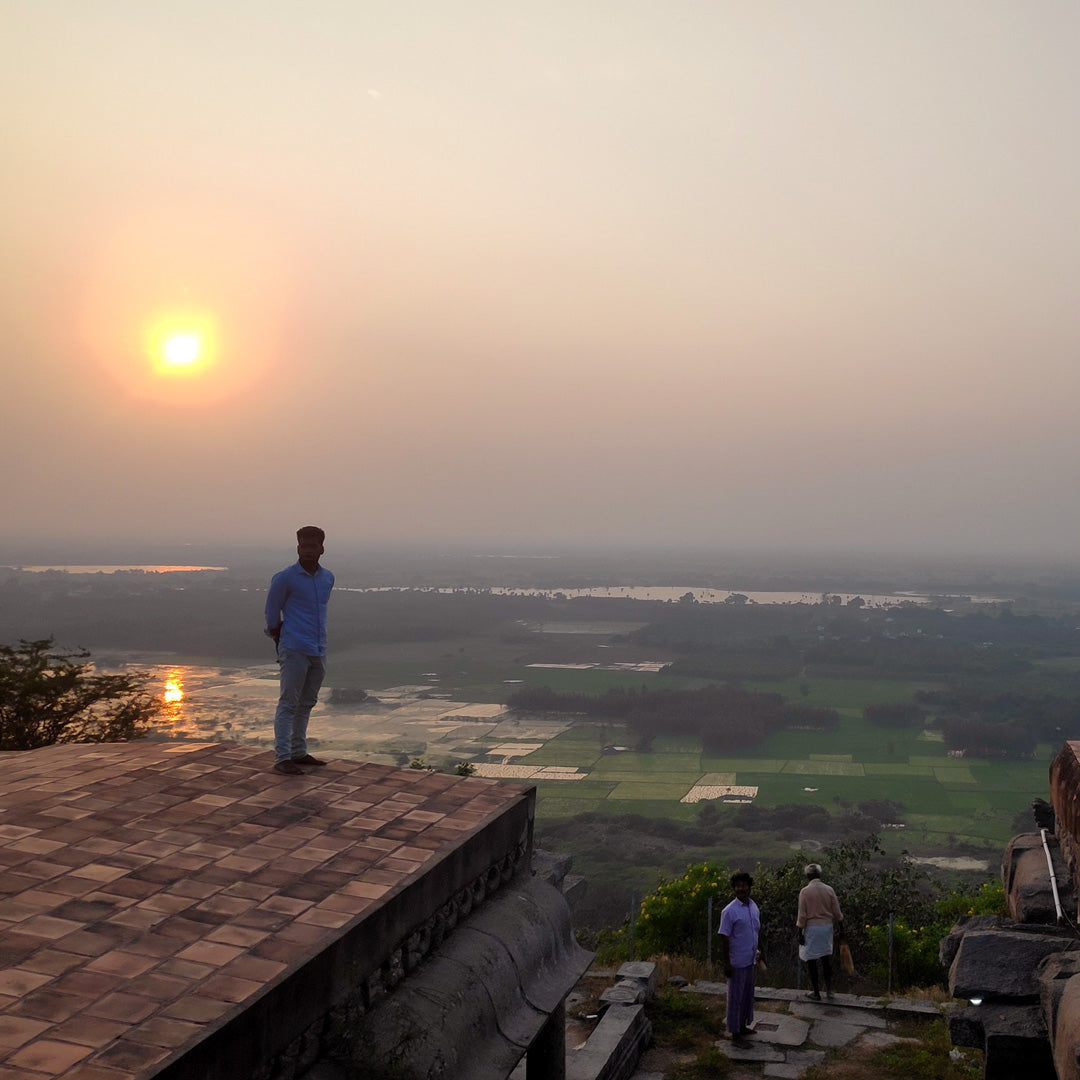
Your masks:
M934 731L882 729L863 719L864 704L895 701L917 685L821 680L811 687L818 703L842 703L845 710L837 731L781 731L731 756L704 754L700 740L686 735L659 738L651 753L602 754L602 745L630 746L633 737L616 725L589 724L550 740L523 761L576 766L589 773L588 781L573 784L542 782L541 820L590 810L692 821L699 808L680 799L693 785L731 784L756 787L756 805L767 807L806 804L836 810L891 800L904 808L905 827L887 840L916 852L1002 847L1017 813L1045 795L1053 748L1040 747L1037 761L962 760L948 756ZM791 689L798 693L794 684Z

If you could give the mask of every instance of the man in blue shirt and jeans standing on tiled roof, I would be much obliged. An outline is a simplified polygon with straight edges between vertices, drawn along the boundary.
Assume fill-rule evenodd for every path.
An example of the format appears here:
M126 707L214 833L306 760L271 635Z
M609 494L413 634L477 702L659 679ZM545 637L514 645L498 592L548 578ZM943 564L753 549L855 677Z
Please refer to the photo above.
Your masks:
M299 558L273 576L267 593L266 634L281 669L273 767L293 775L302 775L300 766L326 764L308 753L308 719L326 675L326 605L334 588L334 575L319 565L325 539L318 525L297 529Z

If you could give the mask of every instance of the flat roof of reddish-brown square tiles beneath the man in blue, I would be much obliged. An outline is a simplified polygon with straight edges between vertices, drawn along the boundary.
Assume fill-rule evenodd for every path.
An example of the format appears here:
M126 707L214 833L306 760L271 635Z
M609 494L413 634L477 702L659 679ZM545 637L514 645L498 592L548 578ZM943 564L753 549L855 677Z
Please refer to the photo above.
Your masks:
M0 1080L243 1076L336 972L377 972L529 842L526 786L269 765L228 743L0 754Z

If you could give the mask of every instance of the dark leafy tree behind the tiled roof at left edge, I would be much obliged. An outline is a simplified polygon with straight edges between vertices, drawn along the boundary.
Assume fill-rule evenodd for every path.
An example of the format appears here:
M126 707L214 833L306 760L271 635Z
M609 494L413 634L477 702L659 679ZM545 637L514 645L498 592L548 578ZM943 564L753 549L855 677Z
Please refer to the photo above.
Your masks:
M0 646L0 751L141 739L160 703L143 673L99 675L53 638Z

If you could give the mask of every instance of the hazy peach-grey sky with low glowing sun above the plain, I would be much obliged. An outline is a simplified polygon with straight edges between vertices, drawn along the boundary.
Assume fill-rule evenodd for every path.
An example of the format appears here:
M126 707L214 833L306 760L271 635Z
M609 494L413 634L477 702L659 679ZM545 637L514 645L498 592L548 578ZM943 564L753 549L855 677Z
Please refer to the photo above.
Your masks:
M0 537L1074 552L1078 53L1075 0L0 0Z

